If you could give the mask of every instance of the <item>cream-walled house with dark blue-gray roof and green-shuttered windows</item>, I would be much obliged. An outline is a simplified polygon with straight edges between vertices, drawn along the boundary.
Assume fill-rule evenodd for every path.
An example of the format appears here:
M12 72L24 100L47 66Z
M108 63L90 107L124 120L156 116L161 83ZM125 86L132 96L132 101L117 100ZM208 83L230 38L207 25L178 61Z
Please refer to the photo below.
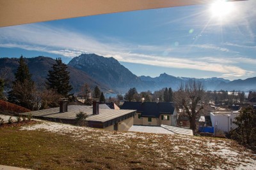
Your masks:
M121 110L136 110L134 125L177 126L177 111L172 102L129 102Z

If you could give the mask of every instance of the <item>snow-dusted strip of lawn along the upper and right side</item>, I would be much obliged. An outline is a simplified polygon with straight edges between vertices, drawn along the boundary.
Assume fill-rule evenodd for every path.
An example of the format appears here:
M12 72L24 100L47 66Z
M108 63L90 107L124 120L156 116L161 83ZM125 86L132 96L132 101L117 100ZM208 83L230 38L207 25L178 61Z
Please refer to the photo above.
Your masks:
M8 120L8 117L3 117ZM72 136L74 140L97 139L91 145L117 145L120 152L134 148L134 143L145 150L154 148L168 166L168 160L175 157L184 162L184 169L256 169L256 155L229 139L206 138L170 134L144 134L140 132L113 132L89 127L77 127L68 124L41 121L41 124L23 126L21 131L49 131ZM90 146L89 146L90 147ZM136 155L134 155L136 156ZM143 159L139 157L138 159ZM183 164L183 163L182 163Z

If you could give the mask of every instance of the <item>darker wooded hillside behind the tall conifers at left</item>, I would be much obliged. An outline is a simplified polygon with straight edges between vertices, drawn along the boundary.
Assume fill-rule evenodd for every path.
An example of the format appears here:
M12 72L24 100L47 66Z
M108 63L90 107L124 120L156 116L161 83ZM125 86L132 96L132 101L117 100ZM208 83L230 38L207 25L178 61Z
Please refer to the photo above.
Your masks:
M55 60L50 57L34 57L34 58L24 58L25 62L28 64L29 72L32 74L32 80L37 84L44 84L47 78L48 71L51 69L52 64L55 64ZM19 66L18 58L0 58L0 69L9 70L8 77L10 82L15 78L14 73ZM70 84L73 86L73 92L79 92L81 85L88 83L91 87L98 85L102 90L109 90L106 85L93 80L88 74L83 71L79 71L74 67L68 66L67 71L70 72Z

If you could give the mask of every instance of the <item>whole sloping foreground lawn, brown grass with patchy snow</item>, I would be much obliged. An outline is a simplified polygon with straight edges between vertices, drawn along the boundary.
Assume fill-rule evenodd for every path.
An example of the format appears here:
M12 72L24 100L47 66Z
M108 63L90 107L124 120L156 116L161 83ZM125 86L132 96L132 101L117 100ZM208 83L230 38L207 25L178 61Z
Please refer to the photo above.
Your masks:
M55 123L45 127L51 125L56 127ZM0 164L31 169L234 169L256 160L250 150L227 139L71 125L56 127L58 132L20 128L0 129ZM222 154L223 148L229 155Z

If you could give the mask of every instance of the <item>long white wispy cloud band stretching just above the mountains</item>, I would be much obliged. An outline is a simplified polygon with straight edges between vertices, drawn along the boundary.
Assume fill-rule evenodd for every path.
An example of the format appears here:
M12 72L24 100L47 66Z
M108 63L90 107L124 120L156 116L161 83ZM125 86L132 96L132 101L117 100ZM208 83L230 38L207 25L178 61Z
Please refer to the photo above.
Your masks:
M108 43L106 43L108 42ZM0 46L48 52L65 57L76 57L81 53L97 53L115 57L122 62L148 64L151 66L196 69L216 73L246 75L246 71L235 66L234 61L214 57L184 57L191 46L175 48L166 45L134 45L116 39L96 39L86 34L70 32L66 29L50 27L45 24L29 24L0 28ZM214 45L193 45L207 50L230 52L228 48ZM179 56L173 53L179 52ZM228 75L227 75L228 76Z

